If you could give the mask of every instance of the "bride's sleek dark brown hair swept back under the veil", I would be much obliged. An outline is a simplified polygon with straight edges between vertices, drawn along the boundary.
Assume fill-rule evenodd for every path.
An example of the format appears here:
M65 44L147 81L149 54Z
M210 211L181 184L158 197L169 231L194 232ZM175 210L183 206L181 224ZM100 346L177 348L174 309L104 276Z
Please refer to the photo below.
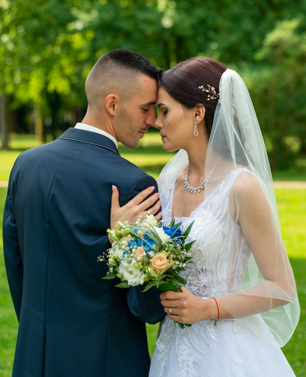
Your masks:
M212 132L218 99L207 101L208 95L212 95L212 93L202 92L198 87L201 85L204 88L207 88L207 85L214 86L218 94L221 76L226 69L224 64L212 58L195 57L181 61L160 77L160 86L187 109L192 109L199 103L203 104L208 137Z

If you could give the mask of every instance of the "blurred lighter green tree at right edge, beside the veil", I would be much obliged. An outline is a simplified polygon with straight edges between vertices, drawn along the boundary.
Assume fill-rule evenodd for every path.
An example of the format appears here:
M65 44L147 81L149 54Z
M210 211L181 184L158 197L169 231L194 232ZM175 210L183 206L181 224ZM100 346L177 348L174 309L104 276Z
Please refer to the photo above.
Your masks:
M306 32L303 19L268 33L249 72L252 100L274 169L290 167L306 144ZM259 110L259 111L258 111Z

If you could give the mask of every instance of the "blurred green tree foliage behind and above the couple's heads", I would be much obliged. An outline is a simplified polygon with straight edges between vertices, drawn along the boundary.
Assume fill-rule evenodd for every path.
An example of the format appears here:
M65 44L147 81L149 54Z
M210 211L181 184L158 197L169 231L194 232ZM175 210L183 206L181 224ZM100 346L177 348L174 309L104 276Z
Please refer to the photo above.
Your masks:
M0 92L27 122L86 109L85 78L102 54L138 51L167 69L211 56L246 82L273 168L306 153L306 2L285 0L0 0ZM29 113L32 115L29 116ZM80 121L80 112L68 116Z

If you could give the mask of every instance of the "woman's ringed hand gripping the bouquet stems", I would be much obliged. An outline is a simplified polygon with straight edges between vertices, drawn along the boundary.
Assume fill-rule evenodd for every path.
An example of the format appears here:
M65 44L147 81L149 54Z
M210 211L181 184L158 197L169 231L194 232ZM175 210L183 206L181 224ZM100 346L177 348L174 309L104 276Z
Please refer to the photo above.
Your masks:
M210 319L211 300L198 299L187 288L182 287L182 292L167 291L160 295L161 305L169 318L180 323L198 323ZM170 313L170 308L171 313ZM218 316L218 314L217 314Z

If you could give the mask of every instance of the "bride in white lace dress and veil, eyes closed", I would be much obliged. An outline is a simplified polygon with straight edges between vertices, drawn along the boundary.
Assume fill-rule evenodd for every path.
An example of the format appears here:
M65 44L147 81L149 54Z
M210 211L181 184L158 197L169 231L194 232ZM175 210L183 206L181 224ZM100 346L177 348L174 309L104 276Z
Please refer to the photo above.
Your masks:
M216 60L191 58L162 74L158 108L164 149L180 150L158 178L163 219L194 221L196 242L182 292L160 296L167 315L150 377L294 376L280 347L300 307L244 82Z

